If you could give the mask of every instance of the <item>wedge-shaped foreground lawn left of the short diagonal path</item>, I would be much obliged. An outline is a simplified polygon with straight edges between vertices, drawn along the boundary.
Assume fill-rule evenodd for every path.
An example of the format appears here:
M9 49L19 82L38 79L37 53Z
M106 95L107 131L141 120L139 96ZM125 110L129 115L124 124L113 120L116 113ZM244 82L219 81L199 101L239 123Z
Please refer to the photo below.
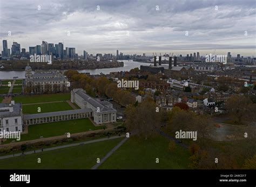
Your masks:
M0 169L91 169L122 139L106 140L0 160ZM41 158L41 163L37 159Z

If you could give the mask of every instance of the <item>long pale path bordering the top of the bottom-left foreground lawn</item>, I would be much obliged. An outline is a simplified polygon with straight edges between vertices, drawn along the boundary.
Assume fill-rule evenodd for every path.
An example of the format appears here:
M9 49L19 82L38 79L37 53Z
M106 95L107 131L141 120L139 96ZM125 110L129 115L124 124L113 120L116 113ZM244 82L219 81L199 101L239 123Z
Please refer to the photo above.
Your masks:
M37 149L35 151L31 150L29 152L24 152L24 154L16 153L16 154L12 154L12 155L5 155L5 156L0 156L0 160L12 158L12 157L17 157L17 156L25 156L25 155L35 154L35 153L42 153L42 152L47 152L47 151L50 151L50 150L57 150L57 149L62 149L62 148L67 148L67 147L83 146L83 145L89 144L89 143L95 143L95 142L99 142L99 141L106 141L106 140L111 140L111 139L117 139L117 138L124 137L124 136L125 136L125 134L123 134L121 136L111 136L110 138L101 138L101 139L84 141L84 142L79 142L79 143L72 143L72 144L68 144L68 145L64 145L64 146L44 148L43 151L42 151L42 149ZM125 139L127 139L127 138L125 138Z

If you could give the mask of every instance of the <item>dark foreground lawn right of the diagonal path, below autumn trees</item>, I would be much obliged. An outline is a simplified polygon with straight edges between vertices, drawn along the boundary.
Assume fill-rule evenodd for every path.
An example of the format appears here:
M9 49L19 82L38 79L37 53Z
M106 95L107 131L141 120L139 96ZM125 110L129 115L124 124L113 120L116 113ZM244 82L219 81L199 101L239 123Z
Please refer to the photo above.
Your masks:
M190 163L188 149L176 144L176 149L170 152L169 142L163 136L149 140L132 136L99 169L187 169Z

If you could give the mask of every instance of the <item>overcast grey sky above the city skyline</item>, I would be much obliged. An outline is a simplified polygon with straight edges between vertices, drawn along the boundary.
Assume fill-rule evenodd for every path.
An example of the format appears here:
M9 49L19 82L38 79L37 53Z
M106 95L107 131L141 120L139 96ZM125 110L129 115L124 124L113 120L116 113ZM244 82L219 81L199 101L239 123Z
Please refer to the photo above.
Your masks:
M84 50L116 54L118 49L125 54L256 56L255 0L0 2L1 51L7 39L8 48L16 41L26 50L42 40L64 42L79 55Z

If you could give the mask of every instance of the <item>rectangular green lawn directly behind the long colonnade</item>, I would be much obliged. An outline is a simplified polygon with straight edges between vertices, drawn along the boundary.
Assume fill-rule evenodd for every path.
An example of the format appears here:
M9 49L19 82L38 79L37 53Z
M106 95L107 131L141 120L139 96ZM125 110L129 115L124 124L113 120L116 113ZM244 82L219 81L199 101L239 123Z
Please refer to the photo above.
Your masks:
M24 114L33 114L33 113L38 113L37 112L38 107L41 107L41 113L73 110L72 107L67 102L23 105L22 110Z

